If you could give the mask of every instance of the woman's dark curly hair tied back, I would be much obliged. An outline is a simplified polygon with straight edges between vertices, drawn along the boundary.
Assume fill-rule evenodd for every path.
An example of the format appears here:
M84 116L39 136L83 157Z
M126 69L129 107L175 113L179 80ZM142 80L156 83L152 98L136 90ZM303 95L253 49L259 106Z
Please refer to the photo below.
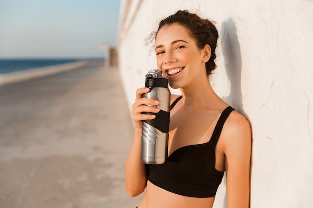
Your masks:
M214 22L208 19L202 19L198 15L190 13L187 10L179 10L159 23L155 37L163 26L174 23L184 26L189 31L199 49L203 49L207 44L211 47L211 57L208 62L205 63L206 74L209 76L216 68L214 60L216 58L215 49L217 45L218 32Z

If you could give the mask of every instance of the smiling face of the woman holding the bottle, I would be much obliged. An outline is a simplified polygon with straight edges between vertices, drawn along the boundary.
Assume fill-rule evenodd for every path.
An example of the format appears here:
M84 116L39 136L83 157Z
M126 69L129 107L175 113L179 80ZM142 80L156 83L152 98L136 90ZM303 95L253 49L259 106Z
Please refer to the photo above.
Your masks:
M206 76L205 49L199 49L180 24L163 26L155 38L157 67L165 70L172 88L182 88Z

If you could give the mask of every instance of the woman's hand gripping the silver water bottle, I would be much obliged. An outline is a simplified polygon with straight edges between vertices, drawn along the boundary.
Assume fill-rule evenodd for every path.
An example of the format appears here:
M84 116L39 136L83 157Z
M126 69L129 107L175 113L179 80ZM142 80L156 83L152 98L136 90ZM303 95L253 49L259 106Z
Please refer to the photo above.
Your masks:
M148 93L149 91L150 89L147 87L137 89L136 91L136 101L131 106L132 120L134 121L136 128L142 129L142 120L152 120L155 118L155 115L142 114L142 112L158 113L160 111L159 108L155 107L159 104L158 100L142 97L142 94Z

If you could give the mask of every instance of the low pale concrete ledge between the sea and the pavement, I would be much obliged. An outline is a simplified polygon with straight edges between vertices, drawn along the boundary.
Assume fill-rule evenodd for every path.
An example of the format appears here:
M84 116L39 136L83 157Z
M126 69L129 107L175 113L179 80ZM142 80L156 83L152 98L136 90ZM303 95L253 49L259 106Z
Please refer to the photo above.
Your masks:
M8 74L0 74L0 86L25 81L29 79L44 77L64 71L69 71L72 69L77 69L86 66L87 63L88 61L79 61L74 63L66 63L54 66L34 68L24 71L17 71Z

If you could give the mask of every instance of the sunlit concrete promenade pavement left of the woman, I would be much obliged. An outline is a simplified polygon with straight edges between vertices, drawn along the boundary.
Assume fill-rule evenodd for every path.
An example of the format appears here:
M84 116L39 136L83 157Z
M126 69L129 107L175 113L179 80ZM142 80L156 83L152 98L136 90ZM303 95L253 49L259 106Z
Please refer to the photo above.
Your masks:
M135 208L124 188L133 124L102 62L0 87L0 208Z

